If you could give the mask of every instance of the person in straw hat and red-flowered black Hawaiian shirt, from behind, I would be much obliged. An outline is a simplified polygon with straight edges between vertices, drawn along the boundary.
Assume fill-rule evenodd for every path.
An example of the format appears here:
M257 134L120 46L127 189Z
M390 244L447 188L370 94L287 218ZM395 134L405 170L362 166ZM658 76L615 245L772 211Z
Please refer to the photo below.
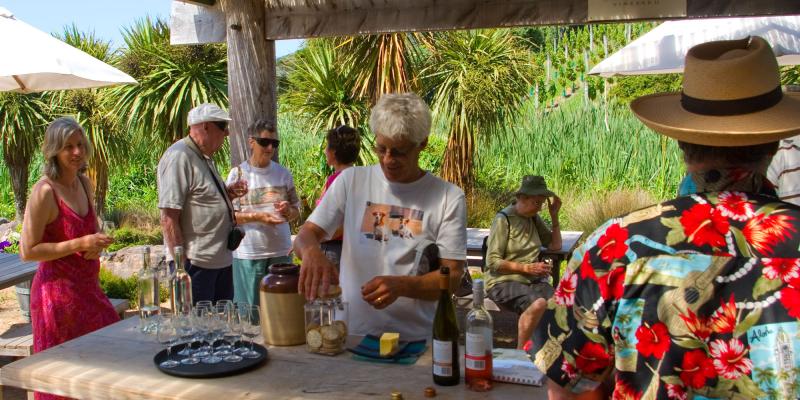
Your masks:
M693 47L683 92L636 99L697 192L614 218L575 251L532 355L551 399L798 398L800 207L765 177L800 133L759 37Z

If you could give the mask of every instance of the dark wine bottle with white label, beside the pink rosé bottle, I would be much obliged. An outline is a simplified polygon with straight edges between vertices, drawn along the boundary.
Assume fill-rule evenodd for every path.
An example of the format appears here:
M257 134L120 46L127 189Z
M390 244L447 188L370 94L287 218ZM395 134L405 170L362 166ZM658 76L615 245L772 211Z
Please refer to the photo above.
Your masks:
M456 310L450 297L450 269L441 267L439 304L433 318L433 382L442 386L461 381L458 357Z

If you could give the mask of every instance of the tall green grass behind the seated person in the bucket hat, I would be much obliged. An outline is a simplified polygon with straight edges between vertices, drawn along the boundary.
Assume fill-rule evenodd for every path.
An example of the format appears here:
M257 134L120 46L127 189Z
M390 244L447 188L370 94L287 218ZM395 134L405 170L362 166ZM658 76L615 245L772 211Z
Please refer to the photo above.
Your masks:
M513 136L489 138L478 154L480 187L503 193L523 175L543 175L556 192L643 189L655 199L676 192L684 173L674 140L646 128L626 107L605 113L573 97L549 113L532 110Z

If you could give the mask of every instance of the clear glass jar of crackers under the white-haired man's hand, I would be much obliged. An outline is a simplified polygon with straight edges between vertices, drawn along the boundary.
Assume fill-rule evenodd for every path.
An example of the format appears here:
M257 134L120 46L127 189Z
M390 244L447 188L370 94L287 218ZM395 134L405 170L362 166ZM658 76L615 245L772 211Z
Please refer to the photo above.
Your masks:
M306 303L306 347L312 353L333 356L345 349L347 341L347 302L342 289L331 285L328 293Z

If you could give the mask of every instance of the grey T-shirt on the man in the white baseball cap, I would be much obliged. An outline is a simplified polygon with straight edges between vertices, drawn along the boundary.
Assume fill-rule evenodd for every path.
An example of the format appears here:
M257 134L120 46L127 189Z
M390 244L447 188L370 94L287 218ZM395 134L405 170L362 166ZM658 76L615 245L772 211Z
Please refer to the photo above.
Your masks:
M188 138L175 142L158 162L158 208L181 210L186 257L192 264L209 269L233 262L227 248L231 230L225 204L228 200L217 189L214 178L224 185L214 162Z

